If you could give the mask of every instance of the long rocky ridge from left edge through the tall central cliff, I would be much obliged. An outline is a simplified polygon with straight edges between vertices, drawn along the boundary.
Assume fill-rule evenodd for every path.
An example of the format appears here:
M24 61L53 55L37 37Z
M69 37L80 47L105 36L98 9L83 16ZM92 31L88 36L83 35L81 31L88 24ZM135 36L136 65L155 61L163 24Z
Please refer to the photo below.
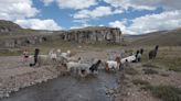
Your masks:
M13 33L12 33L13 34ZM35 45L51 41L68 41L75 43L121 43L123 36L119 29L116 27L85 27L71 31L57 31L52 33L42 33L34 31L25 34L25 30L17 35L1 37L0 47L19 47Z

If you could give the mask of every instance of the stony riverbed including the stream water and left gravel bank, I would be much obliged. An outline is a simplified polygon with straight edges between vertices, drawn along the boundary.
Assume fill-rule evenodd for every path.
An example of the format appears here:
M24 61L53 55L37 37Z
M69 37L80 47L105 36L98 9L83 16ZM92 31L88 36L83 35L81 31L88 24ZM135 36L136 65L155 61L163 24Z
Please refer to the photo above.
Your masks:
M75 57L87 63L93 58L106 59L107 52L81 52ZM29 67L17 56L0 57L0 64L2 101L113 101L118 96L121 71L100 70L96 76L77 78L65 75L61 66Z

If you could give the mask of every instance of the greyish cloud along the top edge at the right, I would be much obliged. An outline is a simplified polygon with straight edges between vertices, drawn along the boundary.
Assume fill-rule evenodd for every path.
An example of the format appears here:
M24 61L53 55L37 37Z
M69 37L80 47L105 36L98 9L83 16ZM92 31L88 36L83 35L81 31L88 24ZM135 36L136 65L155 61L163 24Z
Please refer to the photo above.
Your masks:
M113 7L121 7L124 9L134 8L138 10L155 10L162 7L166 10L181 9L180 0L104 0Z

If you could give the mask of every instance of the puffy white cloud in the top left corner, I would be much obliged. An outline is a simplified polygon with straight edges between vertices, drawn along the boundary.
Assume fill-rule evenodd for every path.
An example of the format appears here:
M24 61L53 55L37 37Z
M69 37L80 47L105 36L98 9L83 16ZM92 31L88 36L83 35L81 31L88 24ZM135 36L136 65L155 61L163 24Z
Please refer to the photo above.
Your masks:
M32 0L1 0L0 19L17 20L35 16L39 10L33 7Z

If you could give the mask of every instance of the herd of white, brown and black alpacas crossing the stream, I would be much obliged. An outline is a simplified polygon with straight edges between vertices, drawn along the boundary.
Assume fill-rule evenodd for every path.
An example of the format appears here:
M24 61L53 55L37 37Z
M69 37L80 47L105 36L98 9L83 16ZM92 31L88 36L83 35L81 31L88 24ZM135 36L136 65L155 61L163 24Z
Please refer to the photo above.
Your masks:
M149 52L149 59L153 59L157 56L158 45L153 50ZM30 64L33 66L42 66L42 65L61 65L64 66L67 72L74 72L78 76L85 77L93 74L98 74L98 70L102 67L106 71L118 71L125 64L128 63L138 63L141 60L141 56L143 54L143 49L137 50L136 54L121 58L120 55L117 55L114 60L100 60L96 59L92 64L83 63L83 58L75 58L71 54L71 50L66 53L62 53L61 49L51 49L47 55L39 55L39 48L34 52L34 63Z

